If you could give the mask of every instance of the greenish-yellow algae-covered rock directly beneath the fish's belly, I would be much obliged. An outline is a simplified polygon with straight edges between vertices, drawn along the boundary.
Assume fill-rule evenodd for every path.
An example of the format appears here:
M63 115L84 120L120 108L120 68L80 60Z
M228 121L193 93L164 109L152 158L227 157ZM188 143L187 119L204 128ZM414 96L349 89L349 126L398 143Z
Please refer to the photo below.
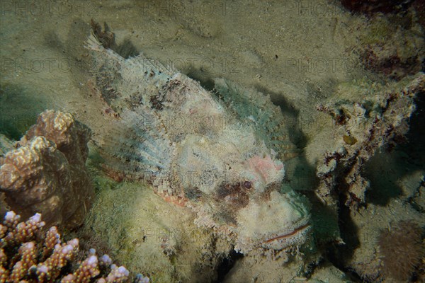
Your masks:
M84 232L103 238L115 259L129 270L142 270L152 282L217 277L218 265L232 250L226 238L198 228L191 209L164 202L147 186L111 186L98 192Z

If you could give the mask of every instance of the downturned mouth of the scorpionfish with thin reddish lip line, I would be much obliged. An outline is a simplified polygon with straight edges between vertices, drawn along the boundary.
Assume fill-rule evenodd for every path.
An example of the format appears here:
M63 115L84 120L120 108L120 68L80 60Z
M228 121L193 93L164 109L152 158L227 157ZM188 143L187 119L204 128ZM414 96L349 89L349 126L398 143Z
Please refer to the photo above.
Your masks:
M310 229L310 227L310 223L305 221L304 223L298 224L295 228L288 232L279 233L270 238L266 238L266 240L261 242L261 246L263 246L263 248L281 249L293 246L294 244L302 244L305 242L306 238L303 233Z

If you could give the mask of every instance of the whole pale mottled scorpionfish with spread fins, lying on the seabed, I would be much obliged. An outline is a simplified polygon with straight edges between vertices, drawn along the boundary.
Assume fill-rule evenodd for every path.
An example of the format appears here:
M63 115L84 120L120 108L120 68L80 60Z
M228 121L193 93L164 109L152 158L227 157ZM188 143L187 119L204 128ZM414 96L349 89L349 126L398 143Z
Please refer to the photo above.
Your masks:
M261 93L215 80L220 93L142 54L125 59L95 35L86 44L94 84L116 118L105 139L115 178L149 180L165 200L191 207L196 224L225 233L234 249L305 243L305 197L280 193L288 141L280 108Z

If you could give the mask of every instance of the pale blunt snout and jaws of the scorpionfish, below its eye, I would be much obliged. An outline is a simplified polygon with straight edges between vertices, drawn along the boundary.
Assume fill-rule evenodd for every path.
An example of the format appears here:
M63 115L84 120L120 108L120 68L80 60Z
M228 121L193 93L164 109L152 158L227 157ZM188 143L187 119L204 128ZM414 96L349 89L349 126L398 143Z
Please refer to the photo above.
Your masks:
M251 197L237 212L235 249L247 253L254 248L283 250L307 241L310 209L305 198L276 190L266 197Z

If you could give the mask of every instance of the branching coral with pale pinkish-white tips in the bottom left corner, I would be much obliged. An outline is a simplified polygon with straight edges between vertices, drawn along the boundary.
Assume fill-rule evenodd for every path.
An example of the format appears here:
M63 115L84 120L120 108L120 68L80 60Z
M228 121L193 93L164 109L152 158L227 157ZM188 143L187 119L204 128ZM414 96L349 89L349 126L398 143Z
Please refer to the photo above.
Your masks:
M78 262L78 238L62 243L55 226L44 233L41 214L20 219L11 211L0 224L0 283L129 282L125 267L113 264L108 255L98 257L94 249ZM137 275L135 282L147 283L149 278Z

